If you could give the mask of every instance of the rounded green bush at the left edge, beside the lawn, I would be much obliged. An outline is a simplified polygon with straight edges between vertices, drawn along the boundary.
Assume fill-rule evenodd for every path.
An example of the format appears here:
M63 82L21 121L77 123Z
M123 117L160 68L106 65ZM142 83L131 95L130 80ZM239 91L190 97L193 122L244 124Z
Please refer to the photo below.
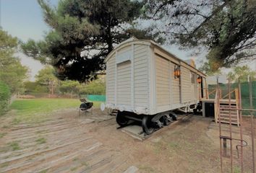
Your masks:
M11 98L11 92L7 84L0 81L0 115L3 115L7 111L9 105L9 99Z

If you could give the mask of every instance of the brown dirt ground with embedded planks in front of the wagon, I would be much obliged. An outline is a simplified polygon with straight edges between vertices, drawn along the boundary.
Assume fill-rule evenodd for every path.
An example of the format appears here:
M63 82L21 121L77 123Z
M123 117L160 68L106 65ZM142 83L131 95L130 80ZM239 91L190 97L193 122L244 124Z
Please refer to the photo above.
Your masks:
M221 172L218 125L199 115L158 130L145 141L116 129L114 117L101 110L80 116L74 109L56 111L41 123L10 121L1 117L0 172ZM235 147L233 151L234 172L239 172ZM247 146L247 172L249 151ZM229 172L229 159L223 162L224 172Z

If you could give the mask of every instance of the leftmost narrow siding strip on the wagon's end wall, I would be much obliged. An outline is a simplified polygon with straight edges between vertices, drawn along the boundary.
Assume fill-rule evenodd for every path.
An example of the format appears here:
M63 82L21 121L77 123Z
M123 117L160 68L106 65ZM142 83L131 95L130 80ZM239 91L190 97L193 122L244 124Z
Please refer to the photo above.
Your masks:
M115 97L115 56L106 63L106 102L114 103Z

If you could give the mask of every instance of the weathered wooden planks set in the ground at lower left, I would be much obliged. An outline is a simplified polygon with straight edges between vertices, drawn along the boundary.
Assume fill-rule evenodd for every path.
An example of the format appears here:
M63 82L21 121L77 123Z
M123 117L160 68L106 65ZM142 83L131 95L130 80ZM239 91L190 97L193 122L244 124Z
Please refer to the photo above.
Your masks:
M14 125L0 138L0 172L135 172L118 151L93 138L91 122L54 117ZM14 143L19 148L10 149Z

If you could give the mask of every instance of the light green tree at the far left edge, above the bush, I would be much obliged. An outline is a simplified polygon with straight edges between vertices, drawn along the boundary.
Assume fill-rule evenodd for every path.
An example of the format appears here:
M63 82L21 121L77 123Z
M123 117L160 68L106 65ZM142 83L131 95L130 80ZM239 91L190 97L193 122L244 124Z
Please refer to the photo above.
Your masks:
M0 81L7 84L12 93L20 92L22 83L27 78L27 67L14 57L17 50L17 38L0 30Z

